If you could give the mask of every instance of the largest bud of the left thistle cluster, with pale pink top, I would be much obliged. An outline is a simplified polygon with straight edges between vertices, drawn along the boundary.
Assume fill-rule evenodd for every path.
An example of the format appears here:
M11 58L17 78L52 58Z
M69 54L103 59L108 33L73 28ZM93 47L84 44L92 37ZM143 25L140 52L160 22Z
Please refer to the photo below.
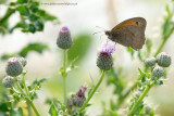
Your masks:
M8 61L5 72L9 76L16 77L23 72L22 63L17 57L11 57Z

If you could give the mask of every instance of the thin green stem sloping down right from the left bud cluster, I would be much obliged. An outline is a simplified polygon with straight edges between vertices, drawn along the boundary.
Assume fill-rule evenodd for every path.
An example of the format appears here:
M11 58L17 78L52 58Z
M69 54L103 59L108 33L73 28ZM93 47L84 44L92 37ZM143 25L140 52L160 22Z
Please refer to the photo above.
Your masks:
M23 91L23 89L21 88L17 77L15 77L15 85L17 87L17 89L20 90L21 93L23 93L25 95L26 101L30 104L30 106L33 107L34 112L36 113L37 116L40 116L40 114L38 113L37 108L35 107L33 101L27 96L27 94L25 94L25 92Z

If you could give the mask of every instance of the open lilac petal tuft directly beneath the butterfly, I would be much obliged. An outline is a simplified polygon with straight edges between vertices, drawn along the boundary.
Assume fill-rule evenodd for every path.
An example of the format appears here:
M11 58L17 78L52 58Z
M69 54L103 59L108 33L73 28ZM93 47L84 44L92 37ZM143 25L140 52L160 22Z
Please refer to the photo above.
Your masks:
M115 51L115 43L112 41L108 41L102 43L101 49L100 49L100 53L108 53L111 54Z

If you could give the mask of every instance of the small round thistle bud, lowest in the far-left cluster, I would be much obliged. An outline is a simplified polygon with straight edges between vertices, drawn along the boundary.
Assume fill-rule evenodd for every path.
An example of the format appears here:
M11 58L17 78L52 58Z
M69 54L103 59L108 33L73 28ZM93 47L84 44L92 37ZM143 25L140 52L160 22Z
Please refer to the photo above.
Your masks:
M14 79L13 77L10 77L10 76L5 76L2 80L2 85L5 87L5 88L11 88L14 86Z

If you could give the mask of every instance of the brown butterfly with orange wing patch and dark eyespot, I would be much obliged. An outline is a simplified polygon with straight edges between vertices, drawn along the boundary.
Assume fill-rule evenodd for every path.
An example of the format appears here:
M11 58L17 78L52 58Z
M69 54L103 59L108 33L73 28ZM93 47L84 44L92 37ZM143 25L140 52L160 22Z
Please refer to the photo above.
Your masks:
M116 25L112 30L105 30L109 39L125 47L139 50L145 44L147 22L144 17L133 17Z

